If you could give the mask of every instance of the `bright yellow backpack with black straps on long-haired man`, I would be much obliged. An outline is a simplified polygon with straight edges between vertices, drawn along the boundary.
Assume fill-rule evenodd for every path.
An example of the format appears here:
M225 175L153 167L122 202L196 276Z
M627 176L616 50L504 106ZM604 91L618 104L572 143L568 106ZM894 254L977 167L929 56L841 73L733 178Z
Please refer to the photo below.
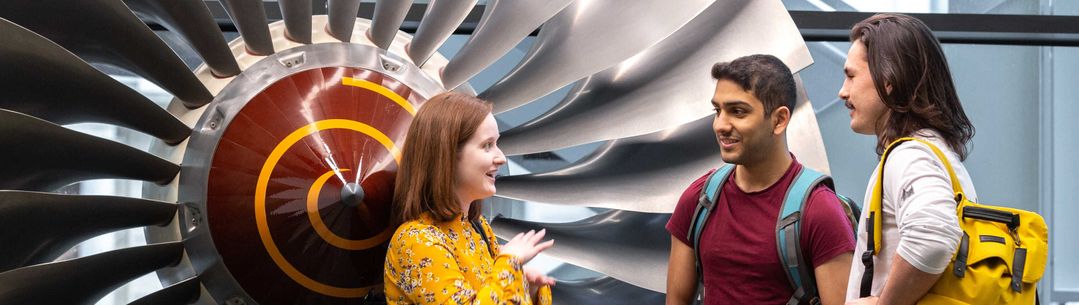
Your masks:
M952 179L962 239L952 262L918 304L1036 304L1037 283L1046 272L1049 254L1049 228L1038 213L980 205L962 194L952 165L932 143L901 138L888 145L880 157L877 183L864 222L869 240L862 253L862 296L873 287L873 255L880 250L880 210L884 186L884 162L902 142L918 141L937 154Z

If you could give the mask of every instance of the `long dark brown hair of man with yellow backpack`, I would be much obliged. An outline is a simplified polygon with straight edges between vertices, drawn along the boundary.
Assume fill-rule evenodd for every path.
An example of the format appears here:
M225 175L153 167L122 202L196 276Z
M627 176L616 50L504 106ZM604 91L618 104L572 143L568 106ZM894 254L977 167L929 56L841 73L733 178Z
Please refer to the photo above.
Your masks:
M962 111L947 59L929 27L903 14L876 14L850 29L850 42L865 44L873 85L888 107L875 126L877 154L898 138L931 128L966 160L974 125Z

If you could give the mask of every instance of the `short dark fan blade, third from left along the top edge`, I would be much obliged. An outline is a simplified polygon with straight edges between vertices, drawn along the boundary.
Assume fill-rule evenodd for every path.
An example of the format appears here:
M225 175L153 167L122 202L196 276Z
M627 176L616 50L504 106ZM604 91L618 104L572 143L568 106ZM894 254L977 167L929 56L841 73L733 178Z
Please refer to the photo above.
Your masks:
M224 4L236 30L244 38L247 53L259 56L273 54L273 41L270 39L262 0L221 0L221 4Z

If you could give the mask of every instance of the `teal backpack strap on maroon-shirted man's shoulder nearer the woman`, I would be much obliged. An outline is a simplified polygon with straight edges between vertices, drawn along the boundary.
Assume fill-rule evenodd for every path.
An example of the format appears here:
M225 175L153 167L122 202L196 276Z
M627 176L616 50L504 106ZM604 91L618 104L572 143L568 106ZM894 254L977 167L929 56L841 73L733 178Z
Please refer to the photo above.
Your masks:
M692 242L689 247L693 247L693 258L696 261L697 295L701 300L704 300L705 292L705 269L700 264L700 247L697 247L697 245L700 245L700 232L705 228L705 224L708 223L712 208L720 198L720 190L723 189L723 182L727 181L727 177L730 176L730 171L734 169L734 165L724 164L719 169L712 171L712 175L705 180L705 186L700 189L700 197L697 199L697 207L693 210L693 218L689 219L689 231L686 232L686 239Z

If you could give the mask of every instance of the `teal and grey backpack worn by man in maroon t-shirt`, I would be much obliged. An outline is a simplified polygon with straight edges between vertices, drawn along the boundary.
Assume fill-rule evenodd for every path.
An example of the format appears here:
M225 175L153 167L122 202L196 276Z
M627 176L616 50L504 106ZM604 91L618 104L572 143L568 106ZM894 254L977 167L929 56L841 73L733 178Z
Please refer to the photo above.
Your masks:
M734 169L734 165L725 164L709 175L705 186L701 188L700 198L697 200L697 207L694 209L693 218L689 221L689 232L686 239L693 242L691 247L693 247L694 258L696 259L697 282L701 294L704 294L704 268L700 263L700 247L697 247L697 245L700 245L701 231L705 224L708 223L708 219L711 218L712 208L719 202L723 183L727 181L727 177L730 176ZM790 188L787 189L787 194L783 196L783 205L776 220L777 255L779 255L779 262L786 272L787 280L794 290L794 294L787 302L789 305L820 304L812 266L803 257L801 236L802 209L805 207L806 200L809 199L812 190L821 183L835 191L835 185L832 183L831 177L803 166L802 170L795 175ZM852 224L851 234L853 234L858 227L858 217L861 214L861 210L850 198L838 194L836 196L843 205L847 219Z

